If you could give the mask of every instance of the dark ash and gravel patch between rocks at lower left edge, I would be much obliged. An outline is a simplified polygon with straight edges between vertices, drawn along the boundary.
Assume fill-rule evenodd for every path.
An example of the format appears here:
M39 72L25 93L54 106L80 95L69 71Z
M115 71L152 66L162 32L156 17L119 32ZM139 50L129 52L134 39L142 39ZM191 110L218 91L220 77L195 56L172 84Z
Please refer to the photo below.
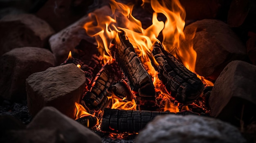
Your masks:
M27 108L27 100L23 100L20 103L11 103L10 101L3 100L0 104L0 115L13 116L25 125L32 120L32 116Z

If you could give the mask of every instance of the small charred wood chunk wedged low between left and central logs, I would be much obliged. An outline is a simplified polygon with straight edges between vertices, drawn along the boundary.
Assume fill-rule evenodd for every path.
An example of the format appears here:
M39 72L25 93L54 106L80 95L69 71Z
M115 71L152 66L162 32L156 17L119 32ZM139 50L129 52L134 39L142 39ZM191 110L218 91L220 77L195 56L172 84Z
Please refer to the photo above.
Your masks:
M110 92L112 96L123 99L124 101L132 101L133 99L132 92L130 91L127 82L124 79L121 79L121 81L112 84L108 88L108 92Z

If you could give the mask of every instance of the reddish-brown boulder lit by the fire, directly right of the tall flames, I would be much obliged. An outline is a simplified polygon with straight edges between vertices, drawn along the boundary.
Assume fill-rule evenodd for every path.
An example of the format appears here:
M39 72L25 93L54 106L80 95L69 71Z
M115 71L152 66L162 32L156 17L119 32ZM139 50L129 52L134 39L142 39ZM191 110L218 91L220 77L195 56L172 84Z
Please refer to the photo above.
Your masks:
M216 80L233 60L246 57L245 45L227 24L219 20L200 20L185 27L186 37L193 37L197 53L195 72Z

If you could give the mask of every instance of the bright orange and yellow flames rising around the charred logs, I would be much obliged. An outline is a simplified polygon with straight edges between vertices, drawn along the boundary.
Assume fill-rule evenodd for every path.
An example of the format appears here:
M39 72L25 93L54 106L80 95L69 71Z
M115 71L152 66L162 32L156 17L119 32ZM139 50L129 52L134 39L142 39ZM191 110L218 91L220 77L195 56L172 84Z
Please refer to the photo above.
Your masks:
M150 63L152 57L151 51L154 42L160 42L157 37L162 34L162 45L164 49L172 53L177 59L181 59L186 68L195 73L195 62L197 54L193 49L192 37L184 35L185 26L185 10L180 4L179 0L142 0L143 4L150 3L153 9L152 25L143 29L142 24L132 15L133 5L126 5L115 0L110 0L111 12L107 10L95 11L89 13L89 22L84 24L84 29L88 35L95 37L99 51L102 53L104 61L111 59L112 40L117 38L119 29L125 31L129 41L135 48L135 52L140 57L146 70L153 78L155 87L160 87L161 82L157 78L157 71ZM159 14L165 16L165 21L159 21L157 18ZM186 41L186 42L184 42ZM106 51L106 53L104 53ZM155 62L156 63L156 62ZM200 79L207 86L213 86L210 81L203 77ZM156 89L157 90L157 89ZM161 90L161 89L158 89ZM162 92L167 98L169 95ZM113 97L112 108L119 108L124 110L135 110L136 104L134 101L124 102L119 101ZM177 106L172 103L166 104L164 110L170 112L178 112Z

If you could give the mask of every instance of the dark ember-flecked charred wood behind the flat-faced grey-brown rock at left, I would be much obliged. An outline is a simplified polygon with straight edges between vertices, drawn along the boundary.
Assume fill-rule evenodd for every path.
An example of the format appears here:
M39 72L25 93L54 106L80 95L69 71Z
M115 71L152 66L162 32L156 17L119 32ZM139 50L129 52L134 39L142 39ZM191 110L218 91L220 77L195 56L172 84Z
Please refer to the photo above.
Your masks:
M85 92L91 88L92 80L103 66L103 57L100 55L97 46L81 40L80 44L72 51L72 57L67 58L63 64L81 65L85 72Z

